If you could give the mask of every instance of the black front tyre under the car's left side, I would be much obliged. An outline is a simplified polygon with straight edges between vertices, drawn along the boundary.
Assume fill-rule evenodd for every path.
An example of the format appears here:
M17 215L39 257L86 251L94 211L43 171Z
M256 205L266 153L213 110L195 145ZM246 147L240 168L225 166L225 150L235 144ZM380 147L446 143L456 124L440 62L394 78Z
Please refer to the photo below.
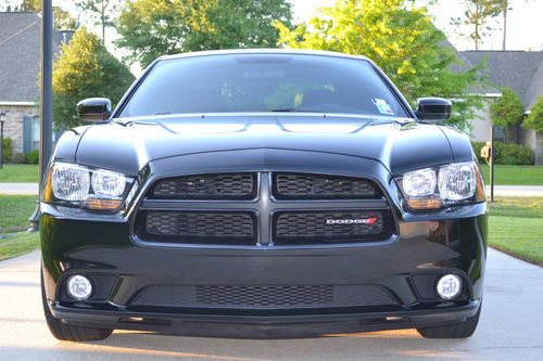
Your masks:
M72 326L55 319L47 305L43 274L41 274L41 304L43 305L43 313L46 314L46 322L49 326L49 331L58 339L78 343L101 340L108 338L113 332L113 330Z

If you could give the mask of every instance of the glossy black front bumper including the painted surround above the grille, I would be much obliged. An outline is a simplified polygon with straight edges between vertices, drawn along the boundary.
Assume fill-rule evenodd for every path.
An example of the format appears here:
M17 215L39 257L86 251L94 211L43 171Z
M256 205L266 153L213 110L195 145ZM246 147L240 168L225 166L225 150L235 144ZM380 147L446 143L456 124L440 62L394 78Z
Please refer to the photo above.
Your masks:
M255 159L262 159L257 155ZM77 325L209 336L247 333L249 337L265 337L272 330L283 330L280 335L287 336L424 327L472 317L482 299L485 203L408 214L400 204L390 173L378 162L349 158L345 163L342 156L328 157L326 162L323 156L305 159L306 170L339 173L350 166L349 176L364 177L363 170L375 175L389 197L397 234L383 242L318 246L164 246L135 240L131 221L137 206L126 215L98 215L42 203L43 282L51 312ZM192 165L182 159L157 160L150 165L148 176L141 177L141 184L152 182L149 175L205 171L198 168L201 165L213 166L215 171L260 167L237 156L228 159L205 158ZM292 164L286 165L288 162ZM299 162L285 156L277 159L280 167L274 167L294 171ZM434 278L445 273L455 273L464 281L462 297L454 301L434 295ZM65 297L64 282L72 274L90 275L101 288L88 301L71 301ZM151 302L138 302L142 292L152 287L177 291L156 292L154 298L148 298ZM231 299L180 302L185 291L194 287L250 289L253 295L256 289L272 296L276 289L287 295L290 289L303 293L324 287L331 293L340 289L344 297L339 304L323 301L326 307L306 306L305 298L289 306L277 297L269 305L261 299L251 306L235 305Z

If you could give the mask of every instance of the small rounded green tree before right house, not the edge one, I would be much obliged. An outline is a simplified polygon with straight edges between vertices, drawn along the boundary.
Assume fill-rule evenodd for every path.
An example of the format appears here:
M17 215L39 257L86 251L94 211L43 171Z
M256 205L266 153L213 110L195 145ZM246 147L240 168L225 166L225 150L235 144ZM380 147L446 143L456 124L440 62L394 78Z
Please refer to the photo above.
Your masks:
M503 127L505 130L509 126L516 125L522 120L525 108L517 93L508 88L502 88L502 96L490 105L490 117L493 127ZM506 140L507 140L507 131Z

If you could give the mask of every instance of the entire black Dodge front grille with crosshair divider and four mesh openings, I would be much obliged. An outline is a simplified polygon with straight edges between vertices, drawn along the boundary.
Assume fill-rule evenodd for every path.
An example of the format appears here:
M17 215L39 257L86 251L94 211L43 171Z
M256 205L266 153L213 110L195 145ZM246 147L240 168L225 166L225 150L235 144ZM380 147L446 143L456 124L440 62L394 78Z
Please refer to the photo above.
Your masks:
M142 199L134 231L151 243L243 246L379 242L397 234L375 181L294 172L159 180Z

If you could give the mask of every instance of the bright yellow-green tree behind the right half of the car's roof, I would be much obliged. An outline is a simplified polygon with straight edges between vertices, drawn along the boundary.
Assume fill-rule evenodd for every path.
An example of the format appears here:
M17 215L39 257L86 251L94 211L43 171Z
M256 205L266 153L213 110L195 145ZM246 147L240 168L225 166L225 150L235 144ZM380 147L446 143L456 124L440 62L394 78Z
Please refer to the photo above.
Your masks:
M366 55L377 63L412 103L420 96L455 101L451 123L467 129L477 96L468 88L478 68L453 72L458 62L454 48L444 46L428 12L402 0L337 1L307 24L294 29L277 22L280 43L288 48L317 49ZM462 99L462 100L460 100Z

